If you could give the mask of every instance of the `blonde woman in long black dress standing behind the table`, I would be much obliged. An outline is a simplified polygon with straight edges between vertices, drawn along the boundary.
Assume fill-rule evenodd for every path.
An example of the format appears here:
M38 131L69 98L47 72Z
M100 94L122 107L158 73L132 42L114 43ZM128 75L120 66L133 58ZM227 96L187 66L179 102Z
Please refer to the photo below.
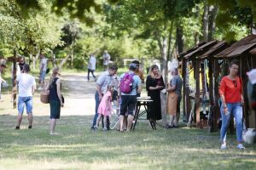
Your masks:
M160 120L162 118L160 91L165 88L163 77L160 75L157 65L151 66L150 75L148 75L146 80L146 88L148 96L153 100L153 102L149 103L147 119L155 124L156 120Z

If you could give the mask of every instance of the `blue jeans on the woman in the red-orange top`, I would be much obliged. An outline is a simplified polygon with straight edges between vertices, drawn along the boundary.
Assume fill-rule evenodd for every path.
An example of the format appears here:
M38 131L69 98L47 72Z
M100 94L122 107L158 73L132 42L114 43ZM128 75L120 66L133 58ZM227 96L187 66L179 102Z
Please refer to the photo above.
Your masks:
M230 125L230 114L236 119L236 139L238 142L242 142L242 107L241 103L229 104L227 103L229 113L224 114L223 105L220 107L222 125L220 129L220 139L222 142L226 142L227 130Z

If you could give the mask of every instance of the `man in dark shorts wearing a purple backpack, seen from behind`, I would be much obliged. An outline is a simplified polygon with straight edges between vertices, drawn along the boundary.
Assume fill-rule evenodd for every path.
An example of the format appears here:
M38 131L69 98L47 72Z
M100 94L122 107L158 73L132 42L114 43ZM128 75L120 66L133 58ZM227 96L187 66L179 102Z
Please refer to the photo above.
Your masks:
M134 119L134 110L137 103L137 93L142 91L142 80L138 77L134 71L136 71L137 65L131 63L129 65L129 71L120 76L119 91L121 94L120 116L119 125L120 132L124 132L123 122L126 111L128 110L128 123L127 131L131 129L131 124Z

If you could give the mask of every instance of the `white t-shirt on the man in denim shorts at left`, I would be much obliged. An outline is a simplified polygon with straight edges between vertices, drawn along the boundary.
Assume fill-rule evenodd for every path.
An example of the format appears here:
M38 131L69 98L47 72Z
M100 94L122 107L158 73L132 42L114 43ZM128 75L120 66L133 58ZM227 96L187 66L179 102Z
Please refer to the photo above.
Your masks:
M17 77L19 84L19 96L20 97L30 97L32 96L32 87L36 87L36 80L34 77L27 73L21 73Z

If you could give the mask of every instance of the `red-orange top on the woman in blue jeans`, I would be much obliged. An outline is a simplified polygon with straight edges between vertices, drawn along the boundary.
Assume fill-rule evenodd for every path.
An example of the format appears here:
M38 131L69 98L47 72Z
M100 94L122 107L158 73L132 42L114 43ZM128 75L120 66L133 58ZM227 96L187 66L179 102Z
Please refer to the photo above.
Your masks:
M224 94L226 103L241 102L241 79L231 80L229 77L223 77L220 82L218 94Z

